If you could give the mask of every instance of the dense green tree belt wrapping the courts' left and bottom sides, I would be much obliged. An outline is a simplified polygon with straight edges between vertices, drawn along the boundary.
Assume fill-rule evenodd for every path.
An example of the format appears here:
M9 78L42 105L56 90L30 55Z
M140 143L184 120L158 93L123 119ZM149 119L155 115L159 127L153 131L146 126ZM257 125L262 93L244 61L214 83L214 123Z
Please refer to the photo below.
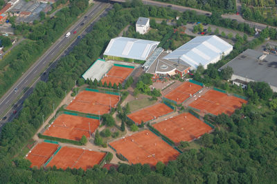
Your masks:
M91 33L75 46L73 52L63 57L51 71L49 81L40 82L33 94L24 102L18 119L6 123L0 137L1 183L272 183L276 176L276 112L269 101L260 99L262 86L253 86L258 94L257 104L249 102L231 116L215 118L212 134L199 140L200 149L191 149L167 165L120 164L118 170L100 168L98 165L83 170L65 171L55 167L46 170L30 169L26 159L13 160L42 124L42 115L51 113L53 102L64 97L74 80L95 61L107 46L109 39L137 19L132 11L119 6L102 17ZM116 6L115 6L116 7ZM147 9L146 6L139 6ZM144 11L144 10L143 10ZM130 13L131 12L131 13ZM136 12L140 15L140 12ZM129 18L128 18L129 17ZM207 76L208 78L208 76ZM265 93L267 94L267 93ZM267 96L267 95L266 95ZM276 95L271 98L276 99ZM272 105L274 107L274 105Z

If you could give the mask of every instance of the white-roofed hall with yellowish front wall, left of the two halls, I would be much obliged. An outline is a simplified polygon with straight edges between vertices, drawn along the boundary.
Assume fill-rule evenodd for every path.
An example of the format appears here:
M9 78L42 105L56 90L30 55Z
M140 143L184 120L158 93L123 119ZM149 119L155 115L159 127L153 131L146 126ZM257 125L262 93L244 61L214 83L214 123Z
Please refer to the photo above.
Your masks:
M109 41L104 56L114 60L127 58L145 61L159 43L159 41L116 37Z

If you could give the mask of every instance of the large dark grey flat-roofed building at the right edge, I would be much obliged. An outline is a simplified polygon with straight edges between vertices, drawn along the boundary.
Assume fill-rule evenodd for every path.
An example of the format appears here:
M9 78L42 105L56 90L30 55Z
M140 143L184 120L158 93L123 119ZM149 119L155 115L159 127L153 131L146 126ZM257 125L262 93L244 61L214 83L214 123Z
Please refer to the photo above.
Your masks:
M247 49L242 54L235 57L229 63L222 66L220 70L227 66L233 68L231 79L240 84L244 82L260 81L269 83L270 88L277 92L277 56L272 54L263 54L256 50Z

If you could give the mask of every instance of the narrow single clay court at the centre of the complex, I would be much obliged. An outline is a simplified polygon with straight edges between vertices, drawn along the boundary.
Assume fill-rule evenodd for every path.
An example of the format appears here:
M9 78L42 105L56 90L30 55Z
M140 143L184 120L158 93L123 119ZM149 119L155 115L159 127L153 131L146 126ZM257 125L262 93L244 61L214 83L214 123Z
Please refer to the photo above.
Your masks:
M173 112L173 110L169 108L166 104L158 103L157 105L152 105L148 108L136 111L127 116L129 117L129 119L132 119L132 121L140 125L141 121L147 122L152 119L157 119L159 116L169 114L170 112Z

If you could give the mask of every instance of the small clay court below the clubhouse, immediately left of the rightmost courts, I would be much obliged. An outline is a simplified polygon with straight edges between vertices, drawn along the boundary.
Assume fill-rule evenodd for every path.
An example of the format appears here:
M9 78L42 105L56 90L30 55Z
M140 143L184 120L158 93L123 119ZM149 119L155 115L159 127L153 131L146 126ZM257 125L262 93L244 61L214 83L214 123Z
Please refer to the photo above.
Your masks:
M176 101L177 104L183 103L186 99L190 97L190 94L193 96L196 92L201 90L203 87L190 82L184 82L178 86L175 90L172 90L170 93L166 94L166 99Z

